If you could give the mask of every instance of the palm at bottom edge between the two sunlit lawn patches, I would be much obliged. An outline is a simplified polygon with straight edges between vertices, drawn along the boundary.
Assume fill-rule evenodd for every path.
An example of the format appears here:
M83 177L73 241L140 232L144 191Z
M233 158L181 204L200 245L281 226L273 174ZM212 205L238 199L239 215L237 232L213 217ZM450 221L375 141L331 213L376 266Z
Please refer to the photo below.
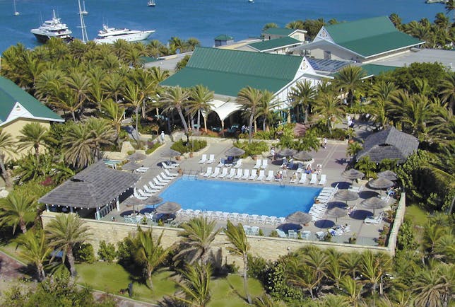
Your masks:
M185 298L175 297L179 301L188 303L190 306L204 307L210 301L210 265L187 265L180 274L184 278L183 282L178 282L182 288Z

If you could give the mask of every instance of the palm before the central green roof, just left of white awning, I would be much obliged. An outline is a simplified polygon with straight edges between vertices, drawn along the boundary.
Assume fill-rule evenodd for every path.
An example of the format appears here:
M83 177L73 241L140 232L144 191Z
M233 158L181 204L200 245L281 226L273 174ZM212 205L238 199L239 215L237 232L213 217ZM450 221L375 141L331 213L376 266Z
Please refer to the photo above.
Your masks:
M199 131L199 127L201 127L201 113L203 117L203 127L207 131L207 115L208 112L211 111L211 100L213 100L213 91L210 91L206 86L199 84L191 88L189 113L194 115L197 112L197 131Z

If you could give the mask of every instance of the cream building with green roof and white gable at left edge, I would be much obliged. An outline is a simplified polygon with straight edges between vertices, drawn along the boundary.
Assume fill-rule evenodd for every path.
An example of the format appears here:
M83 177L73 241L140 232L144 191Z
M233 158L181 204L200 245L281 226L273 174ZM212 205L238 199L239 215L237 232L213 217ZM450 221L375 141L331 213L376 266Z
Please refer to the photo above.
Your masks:
M49 128L50 122L64 120L16 83L0 76L0 129L17 138L20 130L30 122L38 122ZM6 156L17 158L20 154L24 154L24 151L13 155L6 153Z

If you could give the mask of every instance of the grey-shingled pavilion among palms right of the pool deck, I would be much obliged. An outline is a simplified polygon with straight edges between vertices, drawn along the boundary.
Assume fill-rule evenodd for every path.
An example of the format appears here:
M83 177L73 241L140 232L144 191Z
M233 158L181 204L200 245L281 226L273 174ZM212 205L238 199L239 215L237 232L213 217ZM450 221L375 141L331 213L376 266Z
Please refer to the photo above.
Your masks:
M363 150L357 155L357 160L369 156L370 160L380 163L384 159L397 160L404 163L410 154L417 151L419 140L410 134L388 127L380 132L371 134L363 144Z

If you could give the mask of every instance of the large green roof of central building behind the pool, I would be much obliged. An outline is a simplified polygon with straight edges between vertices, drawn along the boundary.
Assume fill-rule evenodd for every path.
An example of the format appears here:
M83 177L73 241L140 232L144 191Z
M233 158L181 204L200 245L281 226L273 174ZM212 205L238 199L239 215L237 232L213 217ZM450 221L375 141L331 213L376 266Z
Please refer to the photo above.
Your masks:
M236 97L245 86L273 93L292 81L302 57L196 47L187 66L162 86L207 86L219 95Z

